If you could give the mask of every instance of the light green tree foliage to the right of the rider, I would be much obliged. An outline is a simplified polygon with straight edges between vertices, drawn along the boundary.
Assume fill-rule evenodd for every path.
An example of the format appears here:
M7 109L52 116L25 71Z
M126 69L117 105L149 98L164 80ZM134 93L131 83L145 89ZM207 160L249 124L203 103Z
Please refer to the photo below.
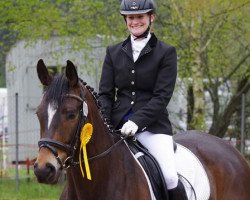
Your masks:
M165 36L166 42L177 47L179 76L191 76L195 52L202 54L203 67L209 70L204 75L210 78L229 74L249 53L249 1L157 2L160 11L157 31ZM234 75L244 73L245 67L241 65L242 70Z

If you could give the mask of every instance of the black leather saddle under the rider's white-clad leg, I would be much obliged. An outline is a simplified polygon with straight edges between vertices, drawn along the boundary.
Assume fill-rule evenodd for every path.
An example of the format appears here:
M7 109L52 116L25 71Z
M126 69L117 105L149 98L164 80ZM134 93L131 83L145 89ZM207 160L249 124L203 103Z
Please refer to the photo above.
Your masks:
M127 138L126 141L148 175L155 198L157 200L169 199L167 185L158 162L139 141L134 138Z

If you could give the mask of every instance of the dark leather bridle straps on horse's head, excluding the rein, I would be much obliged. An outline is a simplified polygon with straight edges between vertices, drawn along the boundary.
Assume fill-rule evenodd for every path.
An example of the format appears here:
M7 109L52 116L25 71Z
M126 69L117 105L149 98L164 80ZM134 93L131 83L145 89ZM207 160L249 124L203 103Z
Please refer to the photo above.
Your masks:
M78 121L77 129L76 129L76 132L75 132L74 137L72 138L70 144L64 144L62 142L59 142L59 141L56 141L56 140L50 139L50 138L41 138L38 141L39 149L41 149L42 147L49 149L51 151L51 153L55 156L57 162L60 164L60 169L63 169L63 168L67 169L67 168L69 168L71 166L75 166L79 163L77 161L74 161L74 158L75 158L76 150L78 147L80 131L81 131L83 124L85 124L85 121L87 118L87 116L85 116L83 114L83 104L85 102L85 99L84 99L84 96L82 95L82 92L81 92L81 96L82 97L77 96L77 95L73 95L73 94L66 94L66 96L65 96L67 98L74 98L82 103L81 110L80 110L80 118ZM64 152L66 152L67 158L65 159L64 162L62 162L61 158L59 157L57 149L60 149Z

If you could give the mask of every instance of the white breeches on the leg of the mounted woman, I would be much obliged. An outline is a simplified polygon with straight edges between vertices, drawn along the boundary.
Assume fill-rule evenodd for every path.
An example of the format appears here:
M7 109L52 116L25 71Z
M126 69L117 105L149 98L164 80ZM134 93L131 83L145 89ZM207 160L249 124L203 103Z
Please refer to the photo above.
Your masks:
M167 188L170 190L177 187L178 175L175 167L172 136L144 131L135 134L135 137L159 163Z

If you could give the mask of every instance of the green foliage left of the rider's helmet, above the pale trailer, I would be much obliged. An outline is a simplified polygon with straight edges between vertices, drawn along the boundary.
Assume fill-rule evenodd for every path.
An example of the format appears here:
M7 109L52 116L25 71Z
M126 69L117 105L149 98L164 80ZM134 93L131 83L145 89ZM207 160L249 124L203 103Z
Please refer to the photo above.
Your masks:
M117 36L119 16L114 0L3 0L0 4L6 29L17 32L18 39L36 40L51 37L72 37L82 45L89 37ZM115 6L114 6L115 4ZM79 44L80 43L80 44Z

